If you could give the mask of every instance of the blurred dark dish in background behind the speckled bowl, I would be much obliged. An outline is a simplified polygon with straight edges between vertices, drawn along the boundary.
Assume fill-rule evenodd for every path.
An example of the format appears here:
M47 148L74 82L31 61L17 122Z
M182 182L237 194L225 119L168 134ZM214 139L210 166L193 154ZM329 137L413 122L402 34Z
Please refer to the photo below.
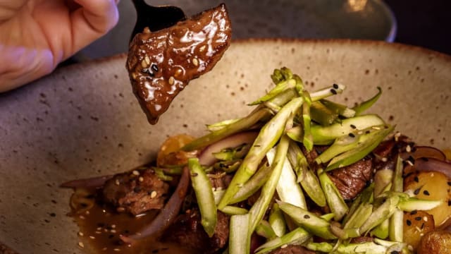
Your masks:
M380 0L155 0L152 5L174 5L192 16L225 2L233 22L233 38L348 38L393 42L396 20ZM96 59L127 52L136 13L131 1L119 3L116 28L90 44L75 60Z

